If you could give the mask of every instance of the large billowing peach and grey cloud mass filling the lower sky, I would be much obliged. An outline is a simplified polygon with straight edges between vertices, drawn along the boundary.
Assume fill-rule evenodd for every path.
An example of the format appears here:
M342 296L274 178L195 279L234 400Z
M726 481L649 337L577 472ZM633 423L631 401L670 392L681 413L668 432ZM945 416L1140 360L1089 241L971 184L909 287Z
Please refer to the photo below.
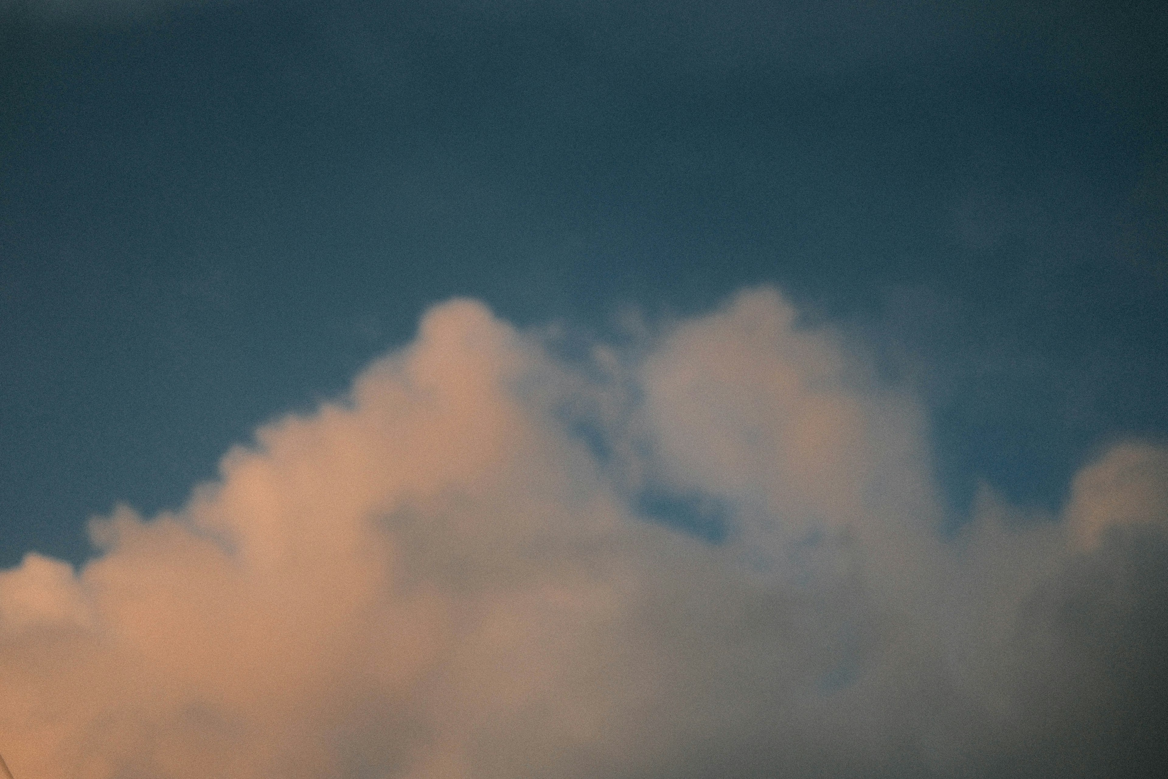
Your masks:
M923 411L776 292L557 338L438 306L180 510L0 572L16 775L1162 767L1168 453L952 538Z

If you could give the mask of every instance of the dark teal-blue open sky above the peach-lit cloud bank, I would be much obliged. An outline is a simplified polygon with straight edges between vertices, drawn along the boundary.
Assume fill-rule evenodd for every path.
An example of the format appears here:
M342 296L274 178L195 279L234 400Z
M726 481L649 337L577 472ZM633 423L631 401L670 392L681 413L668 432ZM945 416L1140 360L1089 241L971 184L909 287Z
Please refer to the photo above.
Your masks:
M0 2L0 565L175 506L425 306L784 290L958 513L1168 433L1161 4Z

